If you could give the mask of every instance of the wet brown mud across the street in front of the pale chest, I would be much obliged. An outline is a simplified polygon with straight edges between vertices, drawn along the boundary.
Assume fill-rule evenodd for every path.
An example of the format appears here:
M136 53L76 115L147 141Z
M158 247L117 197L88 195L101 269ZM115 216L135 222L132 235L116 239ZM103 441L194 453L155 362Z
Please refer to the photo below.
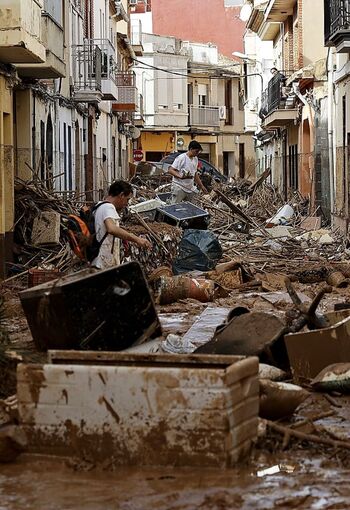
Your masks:
M251 465L207 469L73 471L60 461L22 458L1 466L6 510L248 510L349 507L349 470L307 449L257 453Z

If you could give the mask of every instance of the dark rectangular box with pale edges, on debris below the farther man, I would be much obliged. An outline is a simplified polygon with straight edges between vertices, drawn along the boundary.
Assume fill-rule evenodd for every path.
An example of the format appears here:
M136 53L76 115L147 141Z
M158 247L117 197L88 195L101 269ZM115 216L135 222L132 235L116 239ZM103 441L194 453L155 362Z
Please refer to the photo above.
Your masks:
M180 202L179 204L158 207L156 220L183 229L206 230L210 216L207 211L190 202Z

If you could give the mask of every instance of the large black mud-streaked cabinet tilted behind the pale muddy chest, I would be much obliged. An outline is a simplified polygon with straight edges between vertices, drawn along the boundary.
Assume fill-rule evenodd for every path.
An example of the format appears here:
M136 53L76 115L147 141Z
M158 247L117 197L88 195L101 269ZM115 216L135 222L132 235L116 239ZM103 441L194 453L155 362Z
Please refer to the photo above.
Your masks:
M118 351L161 328L137 262L87 269L20 293L35 345Z

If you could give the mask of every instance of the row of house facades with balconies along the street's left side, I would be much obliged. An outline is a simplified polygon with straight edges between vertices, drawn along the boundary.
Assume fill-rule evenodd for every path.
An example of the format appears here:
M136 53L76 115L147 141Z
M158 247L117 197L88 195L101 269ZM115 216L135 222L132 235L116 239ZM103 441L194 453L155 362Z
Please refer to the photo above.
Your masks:
M12 253L14 177L98 199L129 175L140 106L128 0L9 0L2 10L0 277Z

